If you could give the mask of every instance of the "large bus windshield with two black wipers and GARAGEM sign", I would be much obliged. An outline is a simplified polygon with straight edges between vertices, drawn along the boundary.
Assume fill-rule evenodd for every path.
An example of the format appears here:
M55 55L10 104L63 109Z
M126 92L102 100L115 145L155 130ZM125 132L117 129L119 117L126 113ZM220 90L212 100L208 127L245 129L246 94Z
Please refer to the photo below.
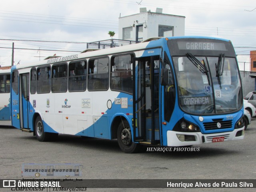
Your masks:
M242 88L234 57L174 56L179 103L192 114L230 113L242 107Z

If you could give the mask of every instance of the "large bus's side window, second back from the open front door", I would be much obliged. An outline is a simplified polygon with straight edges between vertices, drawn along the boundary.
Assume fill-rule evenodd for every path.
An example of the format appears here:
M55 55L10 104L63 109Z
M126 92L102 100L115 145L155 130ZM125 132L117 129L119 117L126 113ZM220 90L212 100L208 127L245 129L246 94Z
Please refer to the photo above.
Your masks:
M99 58L89 61L88 84L89 91L108 90L109 85L109 59Z

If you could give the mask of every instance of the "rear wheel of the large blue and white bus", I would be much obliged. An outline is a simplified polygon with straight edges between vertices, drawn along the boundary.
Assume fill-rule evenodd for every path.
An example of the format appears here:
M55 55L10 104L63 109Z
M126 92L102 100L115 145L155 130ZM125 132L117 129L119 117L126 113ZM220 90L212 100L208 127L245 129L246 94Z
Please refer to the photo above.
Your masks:
M51 134L47 133L47 132L44 132L44 124L43 124L42 119L41 119L40 116L38 116L36 118L34 128L35 128L36 138L37 138L38 141L45 142L45 141L50 140Z

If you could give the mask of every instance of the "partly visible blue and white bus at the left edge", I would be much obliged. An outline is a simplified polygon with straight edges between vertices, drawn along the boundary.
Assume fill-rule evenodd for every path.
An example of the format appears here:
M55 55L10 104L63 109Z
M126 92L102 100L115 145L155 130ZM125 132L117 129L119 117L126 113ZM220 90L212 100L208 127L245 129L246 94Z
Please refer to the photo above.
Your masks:
M0 67L0 121L11 120L10 90L11 67Z

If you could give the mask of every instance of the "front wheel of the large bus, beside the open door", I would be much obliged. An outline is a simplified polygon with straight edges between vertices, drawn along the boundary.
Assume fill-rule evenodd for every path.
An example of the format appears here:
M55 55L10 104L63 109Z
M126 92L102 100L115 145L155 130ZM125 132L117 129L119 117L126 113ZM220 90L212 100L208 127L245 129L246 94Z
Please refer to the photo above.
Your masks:
M140 149L140 144L132 142L130 125L123 120L117 129L117 141L120 149L125 153L135 153Z

